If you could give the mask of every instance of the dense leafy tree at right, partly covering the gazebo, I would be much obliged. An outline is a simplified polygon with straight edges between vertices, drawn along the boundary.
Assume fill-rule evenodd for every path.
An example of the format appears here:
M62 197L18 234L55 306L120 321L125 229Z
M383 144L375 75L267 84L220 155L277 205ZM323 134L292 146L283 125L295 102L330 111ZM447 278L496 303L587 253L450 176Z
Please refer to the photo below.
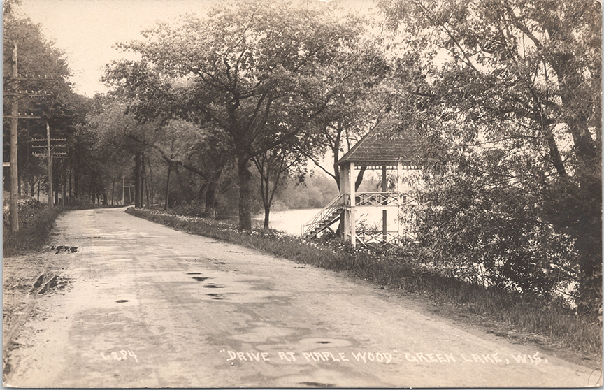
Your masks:
M448 185L434 183L442 207L422 219L431 245L449 254L456 247L468 261L480 250L496 253L491 275L506 273L516 287L518 275L541 274L533 287L556 275L545 252L572 254L577 303L601 305L601 3L380 6L390 27L405 32L408 57L435 64L424 75L429 93L418 94L423 113L407 115L438 117L421 130L454 170L440 176ZM566 250L543 251L545 242Z

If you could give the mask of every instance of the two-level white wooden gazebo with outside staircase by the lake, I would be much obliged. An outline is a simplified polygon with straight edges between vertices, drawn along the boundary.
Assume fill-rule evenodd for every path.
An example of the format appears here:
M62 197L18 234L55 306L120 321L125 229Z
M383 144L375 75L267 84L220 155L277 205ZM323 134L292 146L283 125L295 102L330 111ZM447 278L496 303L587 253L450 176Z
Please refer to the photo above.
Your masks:
M401 127L396 117L386 117L369 131L338 161L340 194L319 214L303 226L304 237L314 237L343 219L343 238L353 246L396 245L408 236L408 226L401 223L401 206L415 203L405 178L417 170L419 137L415 131ZM362 168L379 171L382 188L378 192L357 192L355 181ZM387 185L395 182L395 185ZM376 215L381 210L381 229L367 233L359 231L359 215Z

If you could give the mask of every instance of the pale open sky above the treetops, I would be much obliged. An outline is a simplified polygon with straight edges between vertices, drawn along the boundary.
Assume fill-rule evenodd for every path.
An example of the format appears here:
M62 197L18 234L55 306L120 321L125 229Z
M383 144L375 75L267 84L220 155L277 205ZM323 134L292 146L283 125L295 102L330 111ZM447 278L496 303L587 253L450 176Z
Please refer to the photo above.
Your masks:
M106 92L103 66L115 59L135 59L115 43L141 38L143 29L170 22L185 13L204 14L220 0L21 0L17 12L41 24L55 47L64 50L73 72L75 92L92 97ZM307 0L309 1L309 0ZM312 1L312 0L310 0ZM344 0L363 12L368 2ZM371 3L371 2L370 2Z

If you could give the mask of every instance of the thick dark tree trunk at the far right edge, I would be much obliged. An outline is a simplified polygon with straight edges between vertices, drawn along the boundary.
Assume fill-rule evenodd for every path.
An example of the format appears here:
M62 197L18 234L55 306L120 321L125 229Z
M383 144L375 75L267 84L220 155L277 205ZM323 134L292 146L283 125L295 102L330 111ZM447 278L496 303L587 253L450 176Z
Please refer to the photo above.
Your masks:
M557 17L548 20L546 30L554 43L566 44L575 39L572 26L563 24ZM568 130L573 136L573 152L578 161L578 168L573 175L578 182L574 190L577 196L570 198L572 208L566 212L570 216L571 231L576 238L574 247L580 265L577 310L597 315L602 305L601 153L589 131L589 99L577 98L577 94L585 89L582 87L582 71L575 62L574 55L564 53L555 57L551 64L558 80L563 80L560 82L560 95L566 109L564 112L567 115L565 120ZM555 145L553 136L550 141L552 143ZM552 159L554 157L556 156L552 155ZM561 160L559 157L558 159ZM566 172L564 173L565 175L561 175L563 180L566 179ZM568 188L564 189L563 196L572 194ZM569 223L565 221L564 224Z

